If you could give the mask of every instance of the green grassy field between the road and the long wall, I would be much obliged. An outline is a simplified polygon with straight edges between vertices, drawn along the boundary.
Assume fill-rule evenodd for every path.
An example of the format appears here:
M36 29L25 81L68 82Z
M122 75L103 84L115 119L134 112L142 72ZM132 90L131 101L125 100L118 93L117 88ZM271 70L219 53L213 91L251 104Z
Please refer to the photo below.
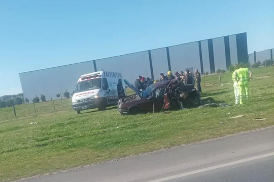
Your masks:
M0 181L88 165L274 125L273 67L254 69L251 103L120 116L116 106L77 115L71 100L0 109ZM234 103L231 74L202 78L202 97ZM204 83L205 82L205 83ZM230 113L230 114L228 114ZM229 117L243 114L244 117ZM256 117L268 118L264 121ZM37 122L38 124L30 124Z

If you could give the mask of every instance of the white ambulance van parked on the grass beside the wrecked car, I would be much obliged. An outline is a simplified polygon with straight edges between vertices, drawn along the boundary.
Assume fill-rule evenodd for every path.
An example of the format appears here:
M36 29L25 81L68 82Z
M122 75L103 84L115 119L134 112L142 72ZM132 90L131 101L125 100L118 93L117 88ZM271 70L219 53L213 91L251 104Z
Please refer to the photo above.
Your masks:
M97 71L81 75L72 97L73 109L80 114L82 110L98 108L102 111L107 109L107 105L117 104L119 79L126 90L121 73Z

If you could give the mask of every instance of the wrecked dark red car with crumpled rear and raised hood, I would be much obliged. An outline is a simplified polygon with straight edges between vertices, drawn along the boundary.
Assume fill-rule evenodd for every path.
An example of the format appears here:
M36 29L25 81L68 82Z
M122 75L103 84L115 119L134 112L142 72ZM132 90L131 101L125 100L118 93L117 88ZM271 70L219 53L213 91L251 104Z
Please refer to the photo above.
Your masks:
M141 93L127 80L124 82L136 94L119 100L118 111L122 115L160 112L167 109L184 109L202 105L200 94L194 85L184 85L176 79L154 83Z

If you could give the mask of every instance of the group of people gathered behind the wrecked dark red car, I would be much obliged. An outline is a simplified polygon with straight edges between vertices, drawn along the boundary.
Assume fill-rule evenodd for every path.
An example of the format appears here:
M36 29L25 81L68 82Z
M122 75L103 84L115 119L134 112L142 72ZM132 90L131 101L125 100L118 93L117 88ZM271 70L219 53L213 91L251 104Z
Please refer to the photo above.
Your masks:
M168 71L166 76L163 73L160 73L160 80L159 81L166 81L171 79L177 79L180 82L183 82L186 85L195 85L196 89L201 92L201 74L197 69L194 71L194 75L187 69L185 74L183 71L179 74L178 71L175 72L175 76L173 75L172 71Z

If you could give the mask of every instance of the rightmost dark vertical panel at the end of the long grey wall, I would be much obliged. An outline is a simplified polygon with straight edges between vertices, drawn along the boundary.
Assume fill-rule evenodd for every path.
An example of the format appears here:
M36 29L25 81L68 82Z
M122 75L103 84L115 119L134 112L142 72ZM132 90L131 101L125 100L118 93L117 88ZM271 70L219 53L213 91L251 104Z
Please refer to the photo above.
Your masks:
M247 33L236 34L238 63L248 63Z

